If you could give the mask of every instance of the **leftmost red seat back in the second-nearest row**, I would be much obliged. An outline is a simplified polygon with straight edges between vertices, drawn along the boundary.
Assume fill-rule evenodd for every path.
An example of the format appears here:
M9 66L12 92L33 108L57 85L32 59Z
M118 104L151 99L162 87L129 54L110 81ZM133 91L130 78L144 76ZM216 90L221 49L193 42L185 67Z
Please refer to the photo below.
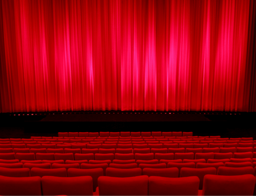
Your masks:
M29 168L0 167L0 175L4 177L30 177Z

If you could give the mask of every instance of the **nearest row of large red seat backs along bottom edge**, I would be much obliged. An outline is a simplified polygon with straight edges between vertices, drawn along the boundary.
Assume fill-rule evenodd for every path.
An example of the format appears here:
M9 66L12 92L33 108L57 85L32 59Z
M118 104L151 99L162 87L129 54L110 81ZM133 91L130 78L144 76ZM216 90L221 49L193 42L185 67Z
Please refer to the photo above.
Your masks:
M204 175L199 177L99 177L93 193L93 178L85 177L3 177L1 195L252 195L255 177ZM13 188L15 187L15 189Z

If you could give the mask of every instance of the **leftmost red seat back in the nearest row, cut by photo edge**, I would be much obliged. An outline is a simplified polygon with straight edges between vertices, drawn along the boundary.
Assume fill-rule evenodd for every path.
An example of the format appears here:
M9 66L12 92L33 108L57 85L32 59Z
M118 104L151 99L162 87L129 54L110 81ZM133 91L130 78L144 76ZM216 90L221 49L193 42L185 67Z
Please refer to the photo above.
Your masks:
M0 176L0 195L41 195L41 178Z

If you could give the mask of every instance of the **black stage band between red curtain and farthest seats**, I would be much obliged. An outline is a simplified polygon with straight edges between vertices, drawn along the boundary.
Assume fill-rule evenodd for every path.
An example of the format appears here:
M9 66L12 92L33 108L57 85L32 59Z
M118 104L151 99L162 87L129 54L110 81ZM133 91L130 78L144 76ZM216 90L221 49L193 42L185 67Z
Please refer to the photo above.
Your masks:
M37 114L37 115L36 115ZM57 136L63 131L193 131L222 138L254 137L255 113L92 112L0 114L0 138Z

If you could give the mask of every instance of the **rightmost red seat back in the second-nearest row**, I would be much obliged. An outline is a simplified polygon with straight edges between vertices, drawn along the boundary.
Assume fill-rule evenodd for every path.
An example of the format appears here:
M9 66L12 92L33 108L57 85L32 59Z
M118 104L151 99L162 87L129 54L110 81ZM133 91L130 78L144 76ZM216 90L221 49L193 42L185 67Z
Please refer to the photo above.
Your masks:
M217 175L245 175L254 174L253 167L219 167Z

